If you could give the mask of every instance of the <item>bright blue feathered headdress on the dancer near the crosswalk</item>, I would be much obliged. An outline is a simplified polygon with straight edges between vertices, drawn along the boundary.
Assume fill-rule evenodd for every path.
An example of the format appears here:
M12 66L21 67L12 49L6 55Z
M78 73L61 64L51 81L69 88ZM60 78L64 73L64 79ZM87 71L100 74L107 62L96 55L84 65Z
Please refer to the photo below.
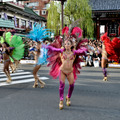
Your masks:
M34 24L33 30L30 31L27 37L36 42L42 42L44 38L50 37L50 31L48 30L49 29L45 29L45 26L42 27L41 24Z

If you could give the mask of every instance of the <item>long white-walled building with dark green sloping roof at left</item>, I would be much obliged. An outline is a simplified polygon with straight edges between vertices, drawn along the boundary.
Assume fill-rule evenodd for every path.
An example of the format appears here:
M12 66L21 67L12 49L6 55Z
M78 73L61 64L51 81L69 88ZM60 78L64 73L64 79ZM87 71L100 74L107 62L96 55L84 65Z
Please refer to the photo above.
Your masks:
M0 2L0 35L4 31L26 33L35 22L45 26L46 19L31 8L16 2Z

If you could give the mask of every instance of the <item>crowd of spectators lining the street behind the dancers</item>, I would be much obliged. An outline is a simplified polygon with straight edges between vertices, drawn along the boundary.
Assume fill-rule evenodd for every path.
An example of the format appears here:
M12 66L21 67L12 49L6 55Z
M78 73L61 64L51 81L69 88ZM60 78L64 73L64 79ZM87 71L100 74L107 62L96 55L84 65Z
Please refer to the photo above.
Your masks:
M37 43L35 41L31 41L28 38L23 38L23 42L25 43L25 53L23 59L26 60L35 60L35 49ZM50 40L45 40L44 44L49 44ZM82 56L82 59L85 63L85 66L101 66L101 58L102 58L102 42L100 40L92 40L89 39L88 43L88 51L86 56ZM0 57L2 54L2 46L0 47ZM1 62L1 59L0 59Z

